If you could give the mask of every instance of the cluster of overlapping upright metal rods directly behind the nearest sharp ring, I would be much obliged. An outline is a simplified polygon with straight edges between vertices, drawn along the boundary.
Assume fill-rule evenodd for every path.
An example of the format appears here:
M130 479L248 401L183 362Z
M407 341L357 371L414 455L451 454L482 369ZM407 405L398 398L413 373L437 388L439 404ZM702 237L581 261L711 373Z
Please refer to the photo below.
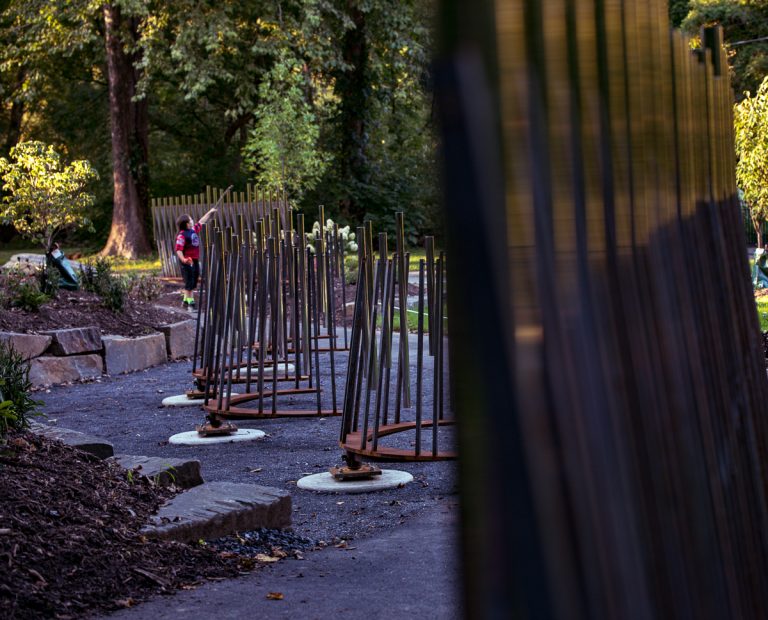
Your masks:
M320 215L322 221L322 209ZM214 228L204 238L209 260L201 279L192 372L209 417L340 414L335 352L346 349L349 329L338 226L321 227L307 247L303 214L296 215L296 229L291 209L289 227L282 221L275 208L253 231L240 216L235 228ZM328 385L321 385L327 369ZM232 394L233 385L241 393ZM323 392L330 401L325 408ZM312 407L279 402L307 394L314 395Z

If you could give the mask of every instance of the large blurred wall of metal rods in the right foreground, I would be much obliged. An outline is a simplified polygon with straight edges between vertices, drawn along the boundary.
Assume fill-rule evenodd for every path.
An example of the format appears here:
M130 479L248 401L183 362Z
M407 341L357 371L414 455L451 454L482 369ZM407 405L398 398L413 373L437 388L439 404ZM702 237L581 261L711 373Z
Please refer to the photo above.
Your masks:
M661 0L443 6L466 614L768 617L719 31L692 51Z

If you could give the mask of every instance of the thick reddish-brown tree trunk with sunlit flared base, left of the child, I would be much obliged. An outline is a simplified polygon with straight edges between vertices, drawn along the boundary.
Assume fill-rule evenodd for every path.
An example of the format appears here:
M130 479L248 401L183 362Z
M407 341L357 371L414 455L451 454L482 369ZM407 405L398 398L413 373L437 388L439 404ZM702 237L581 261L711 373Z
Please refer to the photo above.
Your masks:
M119 6L106 3L104 26L115 190L112 228L101 254L136 258L151 251L147 100L133 101L140 75L134 65L136 53L126 52L127 45L138 39L138 23L123 17Z

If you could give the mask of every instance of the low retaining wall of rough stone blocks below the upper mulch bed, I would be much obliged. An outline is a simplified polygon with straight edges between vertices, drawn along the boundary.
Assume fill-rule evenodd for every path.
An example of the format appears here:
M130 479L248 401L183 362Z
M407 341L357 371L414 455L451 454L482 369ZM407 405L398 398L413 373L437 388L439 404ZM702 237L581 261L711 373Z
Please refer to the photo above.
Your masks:
M157 366L193 354L195 321L158 327L158 333L125 338L102 336L96 327L48 330L41 334L0 332L30 360L34 387L96 379L103 373L122 374Z

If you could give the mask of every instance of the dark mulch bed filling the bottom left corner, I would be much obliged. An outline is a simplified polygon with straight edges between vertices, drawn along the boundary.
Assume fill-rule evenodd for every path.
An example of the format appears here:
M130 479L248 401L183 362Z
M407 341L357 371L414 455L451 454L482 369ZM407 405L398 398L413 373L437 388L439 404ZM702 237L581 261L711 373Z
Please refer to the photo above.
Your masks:
M140 533L172 491L31 433L0 448L0 616L82 618L239 573Z

